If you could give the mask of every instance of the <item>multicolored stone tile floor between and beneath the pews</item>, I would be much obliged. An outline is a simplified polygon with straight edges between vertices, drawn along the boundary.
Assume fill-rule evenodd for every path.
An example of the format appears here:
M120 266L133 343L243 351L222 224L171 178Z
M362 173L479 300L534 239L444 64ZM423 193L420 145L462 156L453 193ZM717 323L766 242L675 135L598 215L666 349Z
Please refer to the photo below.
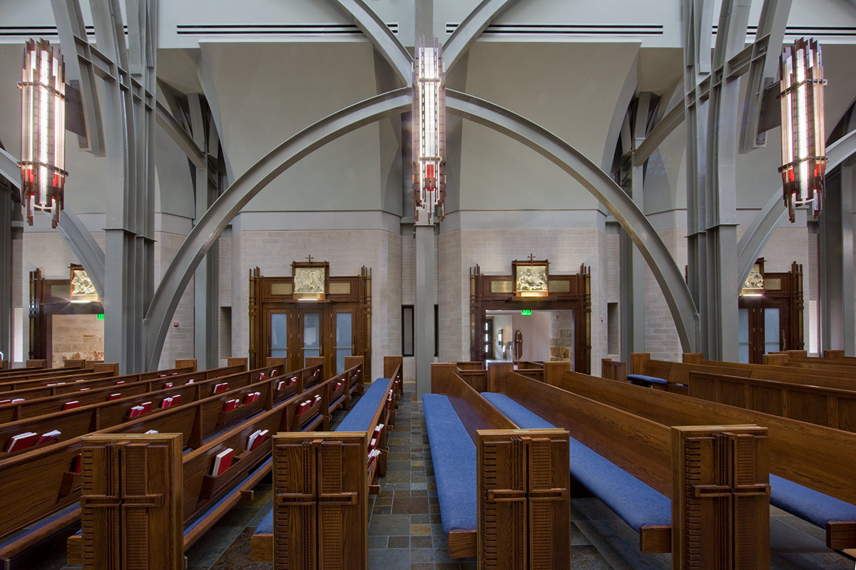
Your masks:
M475 559L452 559L440 521L422 404L412 383L398 409L389 439L387 474L377 497L369 499L370 570L474 570ZM344 414L334 414L333 426ZM270 570L249 559L250 536L272 505L270 480L259 484L252 501L241 503L187 551L187 570ZM772 570L852 570L853 559L829 550L823 530L772 508ZM595 498L574 498L571 556L575 570L669 570L670 555L642 555L639 535ZM71 570L64 548L45 549L39 570ZM52 550L52 551L51 551Z

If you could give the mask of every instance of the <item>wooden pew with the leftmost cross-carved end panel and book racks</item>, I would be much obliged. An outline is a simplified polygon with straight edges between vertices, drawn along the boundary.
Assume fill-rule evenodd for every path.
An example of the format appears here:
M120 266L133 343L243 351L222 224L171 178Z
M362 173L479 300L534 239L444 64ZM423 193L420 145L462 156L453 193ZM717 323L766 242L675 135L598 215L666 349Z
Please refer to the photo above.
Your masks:
M163 525L157 528L149 526L147 549L125 549L127 556L133 557L134 567L158 567L164 570L180 570L184 565L183 551L195 543L223 514L241 500L252 497L253 486L270 473L270 439L252 449L251 437L259 430L270 433L284 432L300 426L297 408L306 397L321 397L321 404L313 409L311 418L303 421L303 426L323 426L329 428L330 415L325 414L326 404L336 382L342 378L352 378L356 367L361 366L361 357L346 373L336 375L323 382L317 382L306 391L289 397L272 408L260 411L214 438L209 438L199 448L185 451L181 434L93 434L83 438L83 478L81 508L83 518L82 532L68 539L68 561L94 562L98 568L118 570L121 561L110 557L111 549L107 544L119 544L118 541L136 541L137 527L134 532L131 525L134 520L126 517L124 526L118 518L103 515L109 508L124 508L126 512L136 514L140 520L160 520ZM347 365L347 364L346 364ZM275 387L276 377L268 380L270 391ZM228 392L224 392L226 394ZM217 397L222 394L217 395ZM259 401L265 400L263 393ZM306 413L304 415L310 415ZM163 442L168 440L169 444ZM169 453L163 451L169 448ZM155 471L143 478L148 485L140 488L141 475L131 469L131 465L140 463L121 462L122 470L114 472L116 477L105 477L102 461L110 457L121 457L123 453L154 454L152 462ZM232 456L228 467L217 469L217 457L223 451L241 450ZM231 455L231 454L230 454ZM130 457L130 455L128 455ZM137 460L141 461L141 460ZM146 460L146 465L149 465ZM172 473L169 477L163 473ZM103 479L110 479L104 481ZM115 485L107 489L105 485ZM157 487L157 488L154 488ZM128 491L133 489L133 492ZM176 494L176 489L177 494ZM122 491L122 492L120 492ZM167 498L169 497L169 498ZM175 502L178 507L175 507ZM109 507L109 508L106 508ZM169 511L165 514L164 509ZM130 538L127 538L130 537ZM128 563L131 561L129 560Z

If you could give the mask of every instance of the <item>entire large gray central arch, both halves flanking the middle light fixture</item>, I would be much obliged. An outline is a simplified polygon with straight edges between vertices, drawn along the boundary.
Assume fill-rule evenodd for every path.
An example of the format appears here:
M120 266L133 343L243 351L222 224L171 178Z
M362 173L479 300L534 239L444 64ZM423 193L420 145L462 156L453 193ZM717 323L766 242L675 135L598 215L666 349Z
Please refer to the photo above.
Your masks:
M229 221L259 191L304 156L360 126L407 109L411 100L410 88L404 87L366 99L319 120L271 150L217 198L181 244L152 299L144 323L146 360L149 368L158 366L169 320L178 305L181 291L187 286L193 271ZM449 111L457 115L489 126L526 144L561 167L597 197L627 231L633 243L641 250L645 261L648 261L675 319L682 348L687 352L695 349L698 338L698 310L687 285L681 279L681 272L663 240L645 218L645 214L615 185L609 175L561 138L507 109L457 91L447 91L446 105Z

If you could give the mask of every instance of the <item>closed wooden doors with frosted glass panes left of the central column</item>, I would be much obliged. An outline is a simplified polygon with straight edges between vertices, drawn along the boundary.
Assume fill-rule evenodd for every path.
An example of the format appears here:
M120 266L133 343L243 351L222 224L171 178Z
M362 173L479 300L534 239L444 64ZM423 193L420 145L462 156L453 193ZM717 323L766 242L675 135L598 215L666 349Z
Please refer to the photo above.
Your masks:
M310 303L306 303L309 305ZM288 370L306 366L306 358L324 358L324 370L340 373L345 356L357 355L358 308L311 303L288 309L265 309L266 356L285 358Z

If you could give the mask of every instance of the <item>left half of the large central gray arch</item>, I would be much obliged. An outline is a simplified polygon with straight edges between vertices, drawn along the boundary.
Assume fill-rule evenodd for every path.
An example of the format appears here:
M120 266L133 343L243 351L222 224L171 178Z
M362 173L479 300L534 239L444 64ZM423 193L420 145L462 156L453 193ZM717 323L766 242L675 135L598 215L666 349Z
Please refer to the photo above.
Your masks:
M178 306L181 291L187 287L196 267L229 225L229 221L259 191L270 184L270 181L276 179L304 156L348 132L355 131L360 126L408 109L411 102L410 88L402 87L355 103L319 120L271 150L246 173L241 174L235 183L217 198L181 244L175 258L163 273L163 279L152 298L152 304L143 323L148 369L153 370L158 367L163 341L169 330L169 320Z

